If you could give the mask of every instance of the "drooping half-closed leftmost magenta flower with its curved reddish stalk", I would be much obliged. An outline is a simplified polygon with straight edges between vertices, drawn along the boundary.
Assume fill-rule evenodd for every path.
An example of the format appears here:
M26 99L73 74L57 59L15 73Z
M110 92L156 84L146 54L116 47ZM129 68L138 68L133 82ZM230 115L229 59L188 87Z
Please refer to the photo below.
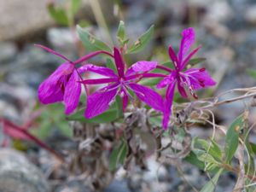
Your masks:
M66 61L65 63L62 63L49 78L45 79L38 88L38 98L40 102L43 104L64 102L66 114L72 113L79 105L81 84L79 84L78 81L81 80L80 74L84 73L84 69L83 67L77 69L75 65L101 53L113 56L106 51L96 51L89 55L84 55L77 61L70 61L64 55L44 47L43 45L36 44L36 46L41 47L54 55L58 55Z

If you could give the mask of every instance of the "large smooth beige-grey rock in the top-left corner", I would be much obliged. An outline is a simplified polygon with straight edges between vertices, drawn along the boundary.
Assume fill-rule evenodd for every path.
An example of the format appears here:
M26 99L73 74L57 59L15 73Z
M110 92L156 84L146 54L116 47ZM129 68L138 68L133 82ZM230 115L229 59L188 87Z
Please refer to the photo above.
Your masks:
M0 1L0 41L26 36L54 22L50 19L45 1Z

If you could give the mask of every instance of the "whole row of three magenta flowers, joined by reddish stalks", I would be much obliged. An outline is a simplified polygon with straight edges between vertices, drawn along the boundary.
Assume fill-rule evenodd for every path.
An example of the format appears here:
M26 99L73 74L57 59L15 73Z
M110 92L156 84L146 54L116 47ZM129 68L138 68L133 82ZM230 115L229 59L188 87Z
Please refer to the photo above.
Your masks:
M163 127L166 129L172 114L172 101L176 84L181 96L187 97L186 90L189 90L189 93L195 98L197 96L194 90L216 84L205 68L191 68L183 72L183 68L200 47L189 53L189 49L195 43L195 30L193 28L189 27L183 30L182 37L177 55L172 49L172 46L169 47L169 55L174 69L161 66L157 61L137 61L131 67L127 68L122 53L118 48L113 48L113 53L103 50L96 51L85 55L77 61L70 61L64 55L43 45L38 45L66 61L48 79L45 79L40 84L38 88L39 100L44 104L64 102L66 113L70 114L78 107L82 84L108 84L102 89L96 90L90 96L87 96L87 106L84 113L85 118L93 118L108 110L117 95L121 96L123 110L125 111L129 100L134 100L131 94L132 91L142 102L164 114ZM109 55L113 58L117 73L108 67L99 67L93 64L76 67L77 64L99 54ZM169 74L151 73L155 68L165 70ZM106 78L83 79L83 73L88 71L101 74ZM151 88L138 84L141 79L145 78L162 78L159 84L156 85L156 88L162 89L166 87L165 97L163 98Z

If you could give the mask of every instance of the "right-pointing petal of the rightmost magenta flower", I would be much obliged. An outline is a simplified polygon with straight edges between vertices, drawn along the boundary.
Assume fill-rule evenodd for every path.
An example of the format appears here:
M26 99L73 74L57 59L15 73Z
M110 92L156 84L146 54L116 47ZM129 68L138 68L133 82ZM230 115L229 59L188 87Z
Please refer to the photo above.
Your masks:
M187 75L187 79L189 79L189 82L187 83L191 84L195 90L210 87L216 84L216 82L204 68L191 68L184 73Z

